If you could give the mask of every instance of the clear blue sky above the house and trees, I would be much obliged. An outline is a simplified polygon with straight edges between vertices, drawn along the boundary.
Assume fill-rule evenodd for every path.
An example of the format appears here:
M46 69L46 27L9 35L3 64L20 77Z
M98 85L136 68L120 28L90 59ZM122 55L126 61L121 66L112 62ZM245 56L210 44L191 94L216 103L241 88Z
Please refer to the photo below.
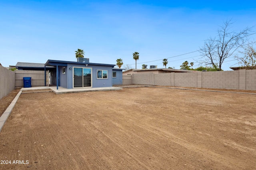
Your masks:
M0 63L76 61L79 48L91 63L121 58L135 68L137 51L137 68L163 68L164 58L167 67L180 69L188 61L195 68L200 54L190 52L230 19L234 31L256 25L256 1L0 0ZM226 61L223 70L238 66L233 58Z

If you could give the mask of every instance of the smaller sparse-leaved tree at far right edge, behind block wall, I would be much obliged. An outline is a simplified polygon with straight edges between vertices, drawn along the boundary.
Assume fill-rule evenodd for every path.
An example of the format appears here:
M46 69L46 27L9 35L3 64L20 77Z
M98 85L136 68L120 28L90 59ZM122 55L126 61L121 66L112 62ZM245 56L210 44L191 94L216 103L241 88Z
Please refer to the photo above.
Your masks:
M256 49L253 45L256 42L250 42L243 47L244 51L239 51L242 56L235 56L239 64L241 64L241 69L256 69Z

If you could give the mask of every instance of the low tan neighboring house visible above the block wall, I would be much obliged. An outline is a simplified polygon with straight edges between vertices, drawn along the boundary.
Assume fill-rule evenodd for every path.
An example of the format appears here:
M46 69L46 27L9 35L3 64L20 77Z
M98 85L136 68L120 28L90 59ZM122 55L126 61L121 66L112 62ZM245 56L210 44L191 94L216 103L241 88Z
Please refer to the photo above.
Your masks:
M123 71L123 75L137 74L137 73L170 73L170 72L197 72L195 70L178 70L172 68L147 68L147 69L130 69Z

